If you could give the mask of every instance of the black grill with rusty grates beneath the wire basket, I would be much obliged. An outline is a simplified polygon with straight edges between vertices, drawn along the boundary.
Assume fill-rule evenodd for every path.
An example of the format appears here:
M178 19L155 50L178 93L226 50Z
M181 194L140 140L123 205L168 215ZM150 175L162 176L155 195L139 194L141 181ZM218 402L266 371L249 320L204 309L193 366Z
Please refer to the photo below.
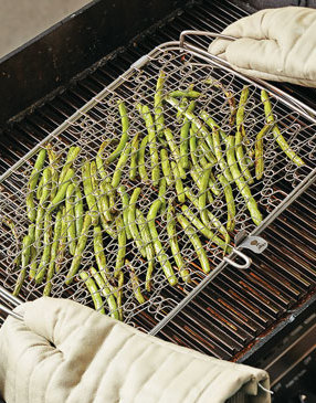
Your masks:
M115 4L115 10L102 19L99 15L106 10L103 2L96 2L65 21L64 26L56 26L33 44L1 61L6 73L1 85L8 94L8 105L1 116L1 173L156 45L178 40L179 33L187 29L220 32L230 22L254 11L244 3L198 1L180 8L180 2L162 2L161 6L161 2L152 1L146 9L146 19L136 17L141 6L134 4L135 9L133 6L129 11L135 13L135 25L131 26L130 19L123 20L118 30L120 34L108 31L105 35L103 29L107 21L118 18L127 7L123 2ZM161 18L165 19L156 23ZM84 26L92 25L94 29L86 35ZM148 30L133 38L144 29ZM65 32L71 38L69 46L73 59L66 55L60 43ZM82 35L85 41L81 41ZM117 49L129 40L128 45ZM45 57L35 57L39 49L46 49L50 42L54 55L63 49L55 70L52 70L51 63L44 65ZM101 57L104 59L99 61ZM70 59L73 61L72 67ZM28 67L22 74L28 60L31 62L30 73ZM41 77L43 85L34 85L34 78L40 79L40 72L46 72ZM23 83L13 79L21 74ZM314 89L293 85L281 87L315 108ZM17 97L17 93L21 96ZM265 353L271 353L274 346L274 357L278 357L284 346L292 342L292 339L284 341L286 337L301 329L316 306L315 195L314 183L264 229L261 236L270 246L261 255L250 254L253 259L250 271L236 272L227 267L157 336L221 359L272 368L268 360L263 358ZM282 191L280 199L283 199ZM167 290L164 297L165 311L175 308L183 298L176 290ZM314 326L313 319L308 320L310 327ZM308 320L299 331L308 329ZM133 325L148 332L157 325L157 318L152 319L143 311Z

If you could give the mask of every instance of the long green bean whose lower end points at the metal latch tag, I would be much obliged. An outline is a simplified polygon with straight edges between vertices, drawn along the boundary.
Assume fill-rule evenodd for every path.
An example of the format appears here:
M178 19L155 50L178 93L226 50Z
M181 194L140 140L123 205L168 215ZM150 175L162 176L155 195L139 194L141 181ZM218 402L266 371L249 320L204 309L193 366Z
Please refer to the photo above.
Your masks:
M255 223L255 225L259 225L262 222L262 215L257 209L257 204L256 204L253 195L251 194L251 190L250 190L249 185L246 184L246 181L244 180L243 176L241 174L241 172L238 168L238 163L235 160L234 145L235 145L234 137L228 136L228 138L227 138L228 163L230 166L231 173L239 188L239 191L245 200L245 203L250 211L252 221Z

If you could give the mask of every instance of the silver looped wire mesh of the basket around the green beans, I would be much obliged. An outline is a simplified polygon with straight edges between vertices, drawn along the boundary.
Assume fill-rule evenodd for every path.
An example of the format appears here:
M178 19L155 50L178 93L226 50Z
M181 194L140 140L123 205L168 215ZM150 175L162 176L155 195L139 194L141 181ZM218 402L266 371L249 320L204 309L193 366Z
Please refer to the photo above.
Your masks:
M69 119L69 121L62 125L59 130L49 136L49 138L42 142L40 147L33 150L32 155L22 159L19 165L13 167L7 174L3 176L0 183L0 211L2 226L0 232L0 271L4 276L4 287L7 289L13 290L19 275L21 276L21 263L17 265L17 259L18 262L19 259L22 259L23 250L21 248L21 242L22 238L28 234L30 225L25 210L25 200L30 194L28 181L30 179L39 149L45 147L48 144L52 146L57 157L54 166L56 170L61 172L63 166L65 165L70 147L80 146L81 152L73 162L75 176L71 179L71 182L78 187L82 194L84 194L82 176L83 165L87 161L94 161L101 145L104 141L108 141L103 153L103 162L105 163L106 158L116 149L120 140L123 128L117 107L118 102L124 100L126 105L127 116L130 125L128 129L129 139L133 140L137 135L141 141L141 139L147 136L148 130L143 116L137 110L136 105L138 103L147 105L152 117L155 116L154 97L157 78L159 76L159 72L161 71L164 71L166 74L164 95L168 95L172 91L187 92L188 88L193 88L194 91L200 92L201 96L197 98L197 105L193 112L194 115L198 117L200 116L201 110L204 110L219 124L221 130L223 130L227 136L235 135L235 124L231 124L233 110L232 100L235 100L234 112L236 112L241 92L246 84L249 86L249 97L245 104L245 114L243 120L243 126L246 132L246 138L243 139L243 149L244 151L253 151L255 149L257 134L266 124L263 104L260 99L260 88L255 84L249 84L249 82L244 82L240 77L235 76L232 72L228 72L215 65L213 66L203 62L202 60L199 60L198 56L190 54L188 51L185 53L180 52L180 50L176 49L175 45L157 49L148 56L148 62L144 66L134 66L130 71L123 75L117 81L117 83L114 83L112 86L106 88L102 94L96 96L92 103L80 109L73 118ZM210 77L213 81L213 85L206 83L206 81ZM177 98L177 102L180 104L182 99ZM298 168L286 157L285 152L280 149L271 130L264 135L264 176L262 180L254 180L253 184L247 184L252 197L257 203L260 212L263 215L263 219L266 218L273 209L277 208L280 202L293 189L295 189L295 187L306 177L307 173L309 173L310 169L315 167L316 160L315 124L310 123L298 112L293 110L292 108L284 105L278 98L271 96L271 102L273 106L273 115L281 130L281 135L284 136L289 147L304 160L305 166ZM173 141L179 150L181 148L180 131L183 125L183 116L178 116L177 118L176 115L176 108L168 103L165 103L165 127L171 130ZM201 118L200 121L202 121ZM204 124L203 127L207 127L207 125ZM208 128L208 130L210 134L212 132L210 128ZM194 136L197 140L196 150L190 149L190 139L192 137L192 132L188 139L187 152L189 155L191 166L187 169L186 178L182 179L182 184L193 194L191 200L186 198L185 204L192 211L196 219L201 220L198 205L199 198L201 195L199 181L207 167L209 167L210 162L206 158L206 148L202 148L206 140L204 131L197 129ZM154 185L151 178L154 166L151 158L152 156L150 152L156 147L159 152L162 148L166 149L169 160L176 162L176 165L180 163L180 159L177 158L175 152L171 152L166 139L162 138L159 140L157 137L155 145L149 142L145 149L145 171L148 174L148 181L141 181L139 176L139 162L137 166L136 179L129 179L130 159L133 158L133 153L138 153L139 150L131 151L127 162L119 169L122 173L119 184L124 184L126 187L126 191L129 197L133 194L136 188L141 189L136 206L128 205L128 211L130 208L137 208L143 212L145 218L148 215L149 209L155 200L159 198L159 185ZM222 157L223 159L227 159L225 148L227 141L222 137L221 151L224 156ZM194 171L197 168L196 166L192 166L192 159L194 160L194 158L198 160L198 165L201 168L198 170L198 179L197 176L194 178L192 174L192 171ZM98 209L97 202L99 201L99 198L105 195L105 193L101 191L101 187L102 184L112 181L113 174L117 169L117 161L118 159L110 162L109 165L104 165L106 170L105 178L102 179L99 172L97 172L95 178L93 178L98 183L97 188L92 190L92 194L96 197L95 210ZM252 157L245 161L247 168L251 170L252 177L255 179L254 167L256 161L254 160L254 155L252 153ZM225 199L225 185L223 185L219 180L219 176L222 174L220 162L221 161L219 160L212 166L214 184L208 185L206 209L208 209L223 226L227 226L228 204ZM46 158L43 169L45 169L48 166L50 166L50 163ZM161 178L164 174L161 171L160 161L158 167ZM241 168L239 169L241 170ZM181 205L183 203L179 201L179 191L176 189L177 178L175 170L171 170L171 174L173 176L173 179L167 185L166 194L161 198L162 208L156 218L155 226L158 232L158 240L167 253L168 259L175 271L175 276L177 277L178 282L176 287L177 289L181 290L183 295L186 295L190 293L207 274L201 269L201 261L199 259L201 251L199 251L199 246L197 248L193 247L192 236L186 233L178 222L176 226L176 237L179 243L181 256L185 261L186 269L190 273L190 283L185 282L177 267L175 257L172 256L170 250L170 237L167 231L167 226L170 224L170 221L168 221L167 218L167 206L170 203L176 209L175 218L177 221L177 214L181 213ZM282 190L280 190L278 182L281 181L283 183L284 181L288 183L288 191L284 191L284 185ZM53 184L54 183L51 182L51 185ZM241 191L239 191L234 181L232 181L229 185L232 188L236 211L234 218L234 230L230 232L230 245L232 246L235 233L241 230L251 232L255 227L255 224L253 223L253 220L250 215L245 200L246 198L241 193ZM212 189L214 191L212 191ZM182 191L180 191L180 193ZM105 278L109 282L108 285L113 287L109 289L109 294L118 297L118 294L122 291L122 311L125 322L134 325L133 317L139 311L146 311L151 315L156 321L159 321L179 303L177 298L164 296L164 289L172 288L164 273L164 266L166 266L166 264L164 264L164 262L161 264L161 259L159 259L159 253L158 255L156 253L154 258L155 268L151 278L151 289L150 291L145 290L148 258L146 258L146 256L141 256L135 240L127 240L126 258L129 261L129 263L127 264L126 261L124 262L120 268L122 273L124 273L124 283L118 284L117 276L115 276L117 255L119 253L118 241L117 237L112 237L108 234L106 225L109 225L110 229L115 231L115 216L124 214L125 210L122 204L122 199L117 193L117 188L113 189L113 191L109 193L107 193L107 197L112 195L114 198L114 205L109 208L113 222L108 222L104 225L101 225L102 222L99 222L102 229L103 252L106 257L106 266L98 267L98 269L99 272L104 272L103 274L105 274ZM39 211L39 200L36 200L36 198L34 199L35 210ZM67 200L67 205L75 206L75 203L77 202L78 200L75 202L73 198L71 198L71 200ZM83 195L82 202L84 203L84 209L88 210L86 195ZM63 200L61 205L64 205L64 203L65 201ZM43 205L45 211L48 205L48 202ZM44 287L48 284L46 278L44 278L41 284L36 284L33 279L28 277L28 274L32 263L35 267L39 267L45 247L52 246L56 212L57 209L55 209L52 213L52 218L48 225L42 227L41 237L38 244L33 245L35 246L35 253L33 261L27 267L27 277L20 291L20 297L25 300L34 299L42 295ZM10 231L8 227L8 220L11 220L13 223L17 236L14 236L12 231ZM66 227L70 227L74 223L75 218L69 214L64 220L66 220ZM139 222L137 220L136 224L139 226ZM154 222L150 222L149 224L152 225ZM206 226L204 223L202 225ZM213 236L218 236L222 241L224 240L224 236L219 227L215 227L213 224L211 224L208 230L213 232ZM46 235L49 235L46 237L44 237L45 232ZM215 244L214 237L206 237L197 230L197 227L194 227L194 232L198 234L202 248L207 253L210 268L214 268L223 257L223 248ZM86 236L87 242L83 253L81 254L78 273L83 271L89 273L88 271L92 266L97 267L94 251L93 226L88 230ZM49 240L48 244L45 244L45 240ZM75 234L76 243L78 240L80 234ZM92 294L87 290L84 282L77 275L75 275L75 278L71 284L65 284L69 268L74 259L74 256L70 253L69 237L66 237L65 241L65 254L62 256L62 258L59 255L56 258L60 264L60 271L54 273L50 282L52 285L51 296L72 298L81 304L92 305ZM44 264L45 271L48 271L49 264L50 259ZM134 274L138 278L136 286L136 277L133 274L130 275L130 266L134 268ZM91 274L88 274L88 276L91 276ZM103 289L106 290L105 286ZM141 303L139 303L139 300L136 298L137 291L139 290L141 291L144 298ZM102 297L103 307L98 306L98 308L104 308L106 312L113 314L108 305L108 290L106 290L106 297ZM93 294L95 294L95 291L93 291ZM118 306L117 309L119 309Z

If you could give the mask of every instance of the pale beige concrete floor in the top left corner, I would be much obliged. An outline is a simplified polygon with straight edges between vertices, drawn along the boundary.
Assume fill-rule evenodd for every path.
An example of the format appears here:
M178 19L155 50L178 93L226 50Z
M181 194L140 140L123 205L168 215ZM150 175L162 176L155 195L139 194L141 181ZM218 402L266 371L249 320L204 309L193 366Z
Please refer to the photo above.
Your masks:
M0 57L91 0L0 0Z

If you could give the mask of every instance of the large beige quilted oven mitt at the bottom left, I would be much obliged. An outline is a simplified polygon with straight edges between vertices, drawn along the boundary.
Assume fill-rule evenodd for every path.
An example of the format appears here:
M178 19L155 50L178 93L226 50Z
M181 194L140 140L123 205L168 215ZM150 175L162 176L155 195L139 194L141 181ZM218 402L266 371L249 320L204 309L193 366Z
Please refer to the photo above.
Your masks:
M21 305L0 330L7 403L267 403L267 373L147 336L66 299ZM243 400L241 400L243 401Z

